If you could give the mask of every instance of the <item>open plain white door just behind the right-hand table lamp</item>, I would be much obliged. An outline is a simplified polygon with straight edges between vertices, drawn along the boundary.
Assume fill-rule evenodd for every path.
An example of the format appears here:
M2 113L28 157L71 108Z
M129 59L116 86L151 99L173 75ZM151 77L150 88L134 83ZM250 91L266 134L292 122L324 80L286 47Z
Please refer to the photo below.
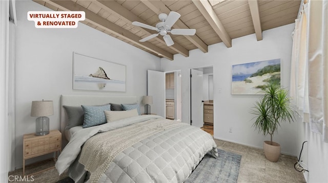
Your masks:
M148 70L147 95L153 96L151 113L165 118L165 73Z

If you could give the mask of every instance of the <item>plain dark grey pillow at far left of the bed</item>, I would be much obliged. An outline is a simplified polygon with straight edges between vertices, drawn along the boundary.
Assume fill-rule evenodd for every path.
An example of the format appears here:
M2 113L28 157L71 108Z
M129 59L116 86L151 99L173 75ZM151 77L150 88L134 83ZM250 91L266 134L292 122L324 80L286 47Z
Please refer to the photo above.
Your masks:
M68 123L65 129L70 129L74 126L83 125L84 121L84 111L81 106L67 106L63 105L67 116L68 116Z

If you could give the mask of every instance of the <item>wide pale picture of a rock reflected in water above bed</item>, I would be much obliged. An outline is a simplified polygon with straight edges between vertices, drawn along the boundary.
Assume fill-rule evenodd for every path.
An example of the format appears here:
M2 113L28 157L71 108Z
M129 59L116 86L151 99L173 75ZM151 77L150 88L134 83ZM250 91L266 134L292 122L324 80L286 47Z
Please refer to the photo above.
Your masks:
M126 91L126 65L73 53L73 89Z

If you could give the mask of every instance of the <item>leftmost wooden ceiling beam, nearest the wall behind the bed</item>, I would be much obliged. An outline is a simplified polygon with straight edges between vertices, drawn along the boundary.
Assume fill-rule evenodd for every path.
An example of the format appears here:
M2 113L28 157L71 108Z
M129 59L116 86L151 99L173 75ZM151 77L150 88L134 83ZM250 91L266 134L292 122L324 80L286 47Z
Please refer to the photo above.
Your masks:
M97 15L96 13L84 8L83 6L80 6L73 1L60 1L60 0L47 0L46 1L49 4L52 4L54 6L59 7L62 10L65 11L84 11L86 13L86 20L91 22L91 24L94 24L100 28L105 29L106 31L109 31L119 37L122 37L124 39L127 39L137 45L139 45L142 48L145 48L153 53L156 53L159 56L165 57L169 60L173 60L173 54L156 47L156 45L150 43L150 42L139 42L139 37L135 34L131 33L130 31L121 28L117 26L116 24L108 21L107 19Z

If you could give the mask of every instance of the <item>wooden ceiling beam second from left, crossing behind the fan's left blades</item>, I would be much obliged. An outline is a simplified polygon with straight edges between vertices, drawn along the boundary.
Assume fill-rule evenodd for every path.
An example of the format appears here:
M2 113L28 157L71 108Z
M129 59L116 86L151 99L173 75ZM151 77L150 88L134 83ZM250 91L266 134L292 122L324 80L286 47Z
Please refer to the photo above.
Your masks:
M137 15L135 15L134 13L132 13L131 11L129 11L128 9L121 6L120 4L118 4L115 1L97 0L97 1L93 1L93 3L96 4L97 6L103 8L104 10L111 12L112 14L116 15L120 19L129 22L129 24L132 24L133 21L139 21L143 24L148 25L148 23L145 20L141 19L140 17L138 17ZM149 30L147 30L147 29L144 29L144 28L141 28L138 26L135 26L135 28L147 33L146 36L152 35L151 33L148 32ZM166 45L165 41L163 39L161 39L160 37L155 37L154 39L156 39L158 42ZM183 48L178 43L174 43L169 48L171 48L172 50L178 52L179 54L181 54L185 57L189 57L189 51L187 49Z

